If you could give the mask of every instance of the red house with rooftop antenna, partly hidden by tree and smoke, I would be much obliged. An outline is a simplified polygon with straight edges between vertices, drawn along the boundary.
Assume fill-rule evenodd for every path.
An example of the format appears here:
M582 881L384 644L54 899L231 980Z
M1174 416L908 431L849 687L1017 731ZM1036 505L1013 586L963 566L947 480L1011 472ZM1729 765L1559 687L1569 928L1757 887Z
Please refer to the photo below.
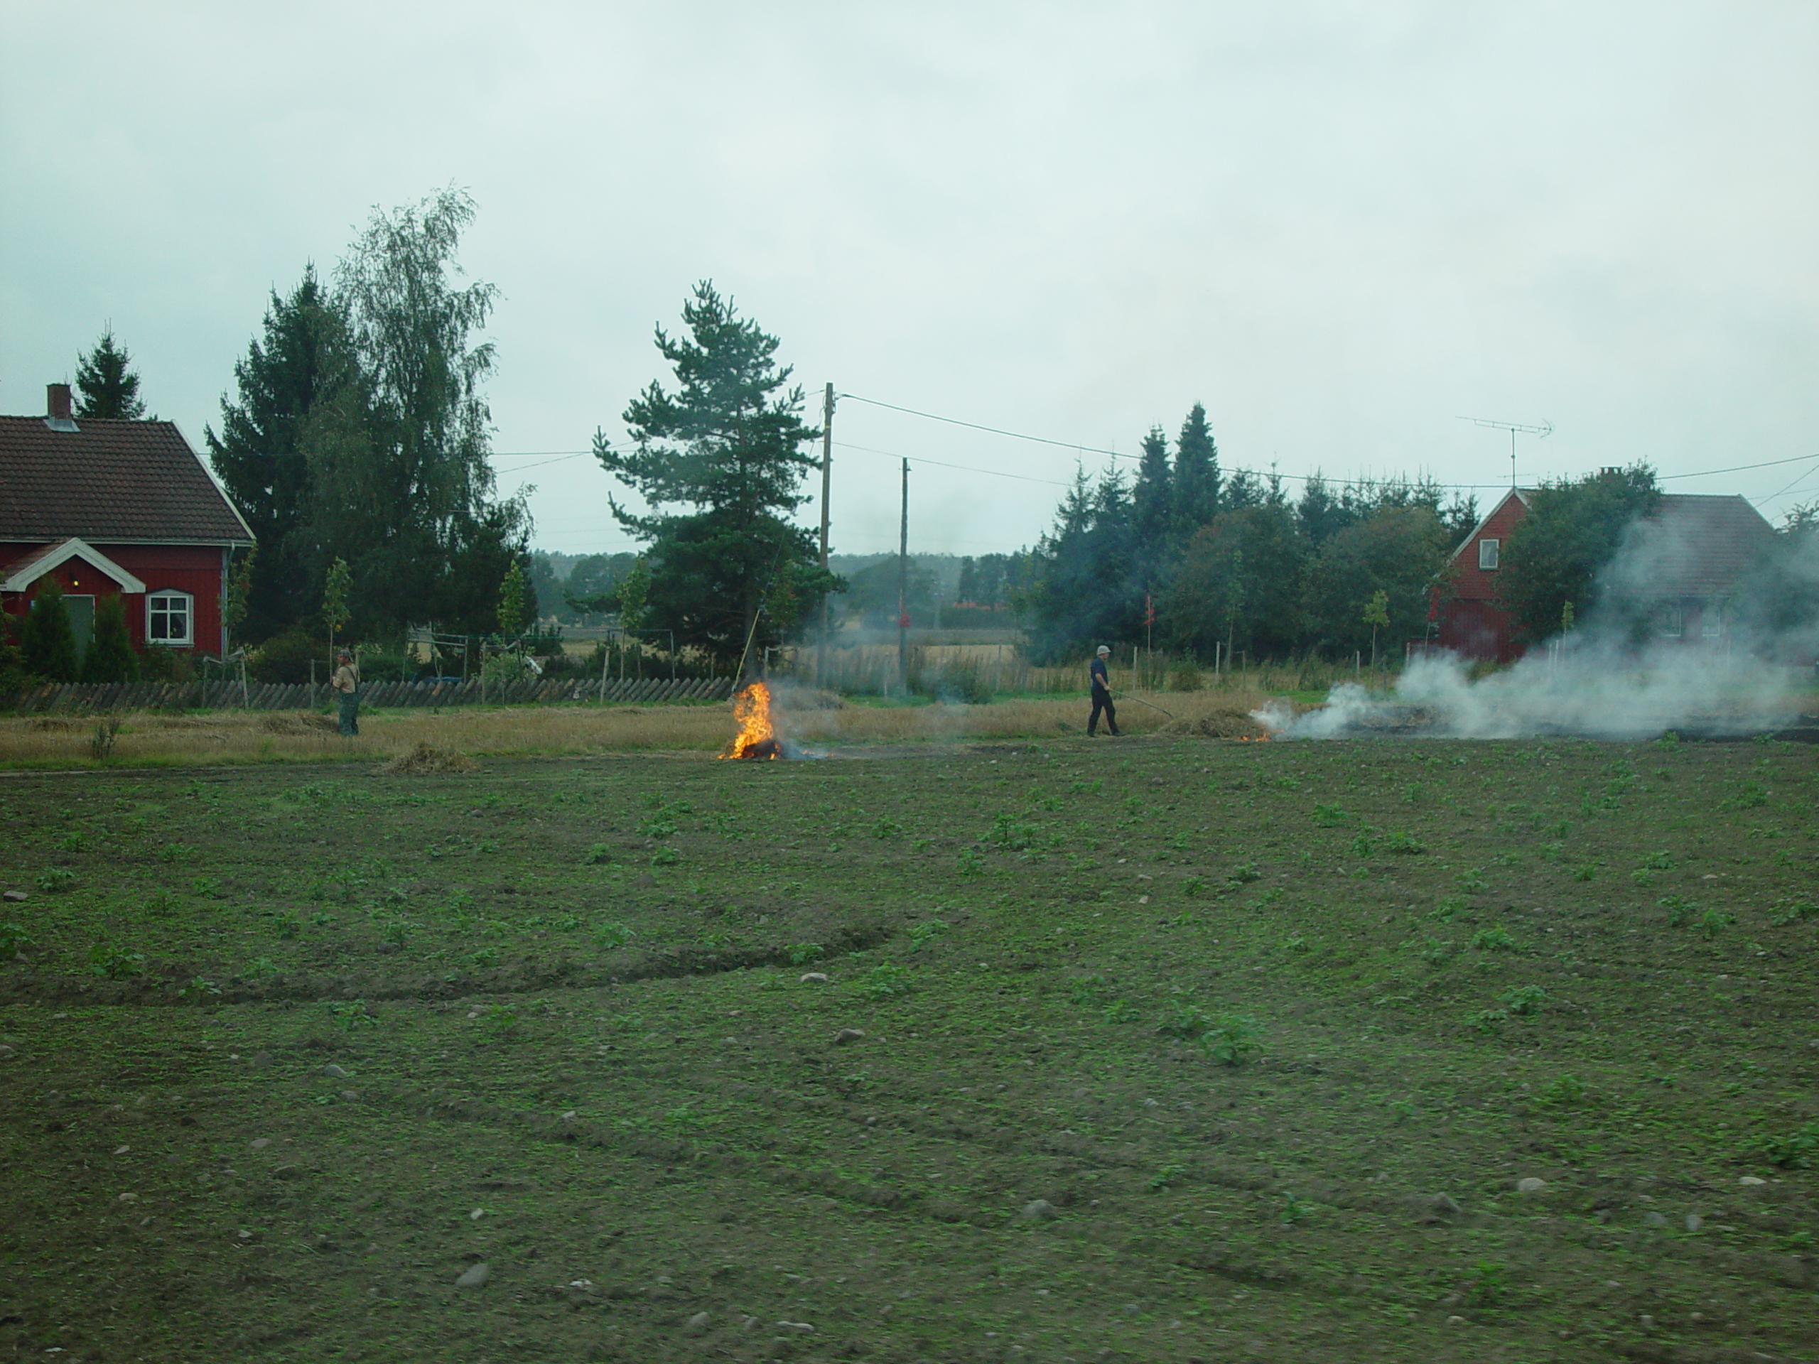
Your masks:
M1533 489L1512 487L1453 551L1450 589L1439 589L1441 649L1499 664L1523 653L1510 638L1497 578L1532 496ZM1748 498L1663 493L1655 511L1624 533L1621 577L1608 591L1646 617L1657 642L1726 646L1730 595L1772 537Z

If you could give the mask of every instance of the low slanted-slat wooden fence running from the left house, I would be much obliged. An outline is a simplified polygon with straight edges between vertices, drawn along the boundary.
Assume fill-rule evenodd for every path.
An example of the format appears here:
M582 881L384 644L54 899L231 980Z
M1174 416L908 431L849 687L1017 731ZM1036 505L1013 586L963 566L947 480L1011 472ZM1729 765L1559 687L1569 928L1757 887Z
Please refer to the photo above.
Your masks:
M524 682L367 682L360 689L362 706L551 706L557 702L644 702L660 706L678 700L726 700L733 680L726 677L677 678L528 678ZM27 687L0 697L0 709L20 715L102 713L102 711L300 711L327 706L335 693L327 684L255 682L242 693L238 682L64 682Z

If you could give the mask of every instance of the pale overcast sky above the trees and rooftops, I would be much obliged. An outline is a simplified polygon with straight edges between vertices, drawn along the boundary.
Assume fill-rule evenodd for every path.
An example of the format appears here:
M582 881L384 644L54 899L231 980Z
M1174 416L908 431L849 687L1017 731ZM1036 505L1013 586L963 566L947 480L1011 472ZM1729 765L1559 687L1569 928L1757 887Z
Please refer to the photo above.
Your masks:
M555 456L622 436L709 276L811 415L1133 453L1199 400L1228 469L1481 506L1510 438L1457 418L1552 422L1524 482L1819 496L1812 4L0 0L0 411L111 320L200 446L269 289L458 186L546 549L629 547ZM848 398L837 551L895 549L895 456L911 546L960 555L1106 464Z

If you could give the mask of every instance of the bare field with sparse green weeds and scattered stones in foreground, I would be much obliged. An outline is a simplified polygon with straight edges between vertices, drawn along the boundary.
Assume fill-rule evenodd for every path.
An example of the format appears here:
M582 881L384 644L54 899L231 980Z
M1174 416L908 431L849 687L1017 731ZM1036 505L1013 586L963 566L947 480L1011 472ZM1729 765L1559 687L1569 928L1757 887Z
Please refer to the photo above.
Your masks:
M0 1357L1819 1359L1819 751L902 751L0 775Z

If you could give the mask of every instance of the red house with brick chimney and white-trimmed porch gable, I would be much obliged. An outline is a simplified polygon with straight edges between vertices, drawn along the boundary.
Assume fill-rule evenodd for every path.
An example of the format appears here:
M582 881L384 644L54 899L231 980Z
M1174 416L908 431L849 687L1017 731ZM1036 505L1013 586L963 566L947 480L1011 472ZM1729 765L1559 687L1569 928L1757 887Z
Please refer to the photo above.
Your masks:
M24 615L55 578L85 649L102 597L122 597L140 647L226 649L222 597L253 531L175 422L0 416L0 609Z

